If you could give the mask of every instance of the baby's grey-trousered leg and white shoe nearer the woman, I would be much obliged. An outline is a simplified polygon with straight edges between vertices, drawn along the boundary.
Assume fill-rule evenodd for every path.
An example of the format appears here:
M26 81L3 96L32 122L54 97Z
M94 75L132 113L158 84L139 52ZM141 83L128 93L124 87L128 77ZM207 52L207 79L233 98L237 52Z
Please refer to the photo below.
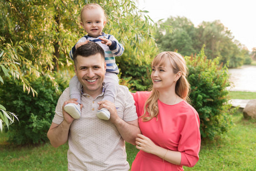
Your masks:
M105 92L103 100L108 100L114 103L117 96L117 91L119 89L119 79L116 74L106 72L104 79L104 89ZM109 120L110 112L106 108L101 108L99 111L97 111L96 116L99 117L99 119Z

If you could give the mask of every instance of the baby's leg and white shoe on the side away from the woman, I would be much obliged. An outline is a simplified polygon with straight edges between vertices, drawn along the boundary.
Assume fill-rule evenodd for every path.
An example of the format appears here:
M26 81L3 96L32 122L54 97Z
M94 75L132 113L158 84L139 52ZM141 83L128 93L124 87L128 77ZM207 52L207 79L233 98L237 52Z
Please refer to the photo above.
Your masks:
M70 80L70 99L78 99L79 104L68 103L64 106L64 111L66 111L74 119L79 119L81 116L80 104L81 104L81 93L80 93L80 82L78 77L75 75Z

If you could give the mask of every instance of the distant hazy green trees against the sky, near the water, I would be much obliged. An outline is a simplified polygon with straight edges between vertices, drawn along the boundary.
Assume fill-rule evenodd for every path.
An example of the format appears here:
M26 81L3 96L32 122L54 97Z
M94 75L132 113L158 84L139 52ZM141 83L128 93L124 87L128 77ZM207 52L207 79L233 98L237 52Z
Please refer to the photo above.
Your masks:
M220 21L202 22L198 27L185 17L170 17L164 23L173 27L173 33L159 28L155 38L163 51L177 50L182 55L191 55L201 50L205 45L205 54L208 59L219 57L221 63L228 67L239 67L249 63L249 51L242 46L231 31ZM245 52L247 51L247 53Z

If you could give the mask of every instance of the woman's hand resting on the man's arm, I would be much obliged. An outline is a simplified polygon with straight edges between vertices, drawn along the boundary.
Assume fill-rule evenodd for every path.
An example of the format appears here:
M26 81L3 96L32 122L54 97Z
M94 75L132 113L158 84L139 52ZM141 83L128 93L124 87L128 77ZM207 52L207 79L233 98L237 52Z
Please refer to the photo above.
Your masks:
M153 153L155 152L157 145L151 141L148 137L137 134L136 138L136 148L139 150L143 150L146 153Z

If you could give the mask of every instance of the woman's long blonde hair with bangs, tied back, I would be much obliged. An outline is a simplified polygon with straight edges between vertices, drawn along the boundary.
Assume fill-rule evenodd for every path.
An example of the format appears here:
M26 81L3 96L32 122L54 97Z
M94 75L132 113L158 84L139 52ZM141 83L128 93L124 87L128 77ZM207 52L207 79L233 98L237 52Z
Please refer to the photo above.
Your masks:
M181 71L181 77L176 82L175 93L176 95L180 96L181 99L189 101L188 95L190 91L190 85L186 79L188 68L186 67L184 58L177 52L161 52L153 59L152 67L158 65L166 66L166 64L170 64L170 67L173 68L174 74L177 74L178 71ZM148 97L148 100L144 105L144 114L141 116L143 121L149 121L153 117L157 117L159 114L159 108L157 105L158 99L159 91L152 88L151 95ZM148 112L148 115L146 115L146 112Z

